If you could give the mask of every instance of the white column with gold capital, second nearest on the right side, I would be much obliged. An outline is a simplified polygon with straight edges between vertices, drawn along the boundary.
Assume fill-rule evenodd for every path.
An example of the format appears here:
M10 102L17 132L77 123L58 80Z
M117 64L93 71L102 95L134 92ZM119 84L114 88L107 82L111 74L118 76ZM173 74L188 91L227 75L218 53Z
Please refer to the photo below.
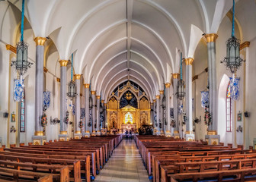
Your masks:
M186 58L186 140L194 140L193 123L192 123L192 63L193 58Z

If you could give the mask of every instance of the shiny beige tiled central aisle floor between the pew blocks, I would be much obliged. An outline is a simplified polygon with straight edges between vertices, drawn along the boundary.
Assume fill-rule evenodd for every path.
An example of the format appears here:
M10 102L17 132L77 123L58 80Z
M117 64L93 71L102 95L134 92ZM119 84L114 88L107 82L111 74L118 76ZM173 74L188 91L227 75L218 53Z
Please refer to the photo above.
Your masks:
M117 149L114 149L113 155L95 181L149 182L148 173L134 140L123 140Z

